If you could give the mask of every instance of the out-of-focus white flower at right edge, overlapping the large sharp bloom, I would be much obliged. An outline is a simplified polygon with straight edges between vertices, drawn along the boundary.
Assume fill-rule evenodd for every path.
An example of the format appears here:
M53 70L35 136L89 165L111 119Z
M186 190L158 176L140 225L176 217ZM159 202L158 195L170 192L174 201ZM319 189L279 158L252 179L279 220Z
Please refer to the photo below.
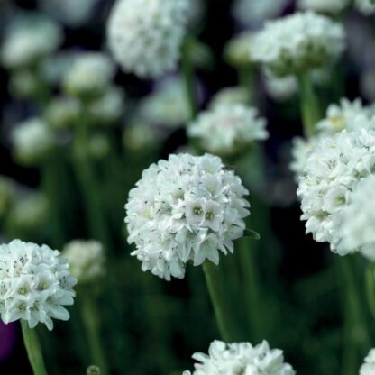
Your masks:
M352 191L343 211L343 245L375 261L375 177L364 178Z

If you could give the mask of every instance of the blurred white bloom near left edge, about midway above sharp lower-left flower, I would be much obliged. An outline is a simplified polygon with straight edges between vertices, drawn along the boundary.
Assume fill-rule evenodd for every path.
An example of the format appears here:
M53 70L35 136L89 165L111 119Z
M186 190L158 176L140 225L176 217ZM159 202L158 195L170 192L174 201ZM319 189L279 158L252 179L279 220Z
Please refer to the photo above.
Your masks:
M40 118L15 125L12 141L15 157L25 164L41 160L56 142L50 127Z

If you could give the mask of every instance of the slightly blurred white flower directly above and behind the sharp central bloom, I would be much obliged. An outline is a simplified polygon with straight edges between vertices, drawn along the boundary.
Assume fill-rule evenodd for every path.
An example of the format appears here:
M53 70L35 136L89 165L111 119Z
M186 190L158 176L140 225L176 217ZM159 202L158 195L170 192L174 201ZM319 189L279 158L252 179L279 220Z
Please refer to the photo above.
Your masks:
M269 133L266 121L255 108L228 104L199 114L188 126L188 135L197 138L206 151L228 156L243 151L254 141L267 139Z

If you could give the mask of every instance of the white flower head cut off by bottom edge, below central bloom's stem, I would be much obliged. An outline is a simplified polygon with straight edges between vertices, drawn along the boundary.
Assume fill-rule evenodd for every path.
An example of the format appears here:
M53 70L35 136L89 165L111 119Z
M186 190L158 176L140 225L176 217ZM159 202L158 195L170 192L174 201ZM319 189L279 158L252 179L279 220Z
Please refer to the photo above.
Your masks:
M270 349L269 343L259 345L251 343L210 344L208 355L197 352L193 358L198 361L193 375L294 375L295 370L284 362L283 352ZM184 371L183 375L191 375Z

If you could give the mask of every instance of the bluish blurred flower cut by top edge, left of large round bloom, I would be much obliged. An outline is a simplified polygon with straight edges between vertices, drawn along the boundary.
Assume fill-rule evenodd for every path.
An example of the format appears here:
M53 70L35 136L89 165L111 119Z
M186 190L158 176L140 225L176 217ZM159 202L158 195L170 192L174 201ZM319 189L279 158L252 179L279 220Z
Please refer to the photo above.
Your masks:
M79 26L94 13L98 0L39 0L41 9L69 26Z

